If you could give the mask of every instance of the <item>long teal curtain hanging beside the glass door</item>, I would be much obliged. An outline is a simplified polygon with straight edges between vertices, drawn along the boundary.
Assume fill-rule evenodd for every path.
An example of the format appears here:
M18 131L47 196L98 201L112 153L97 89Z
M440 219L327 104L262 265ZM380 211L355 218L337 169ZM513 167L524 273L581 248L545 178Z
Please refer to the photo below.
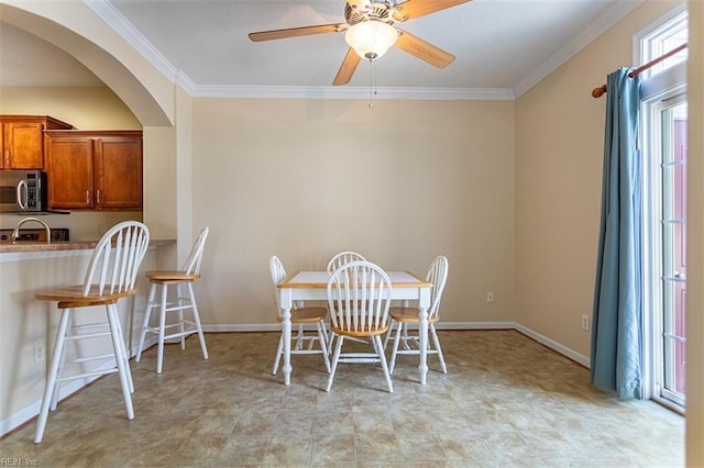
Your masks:
M619 398L642 398L641 160L638 77L620 68L606 81L604 174L591 378Z

